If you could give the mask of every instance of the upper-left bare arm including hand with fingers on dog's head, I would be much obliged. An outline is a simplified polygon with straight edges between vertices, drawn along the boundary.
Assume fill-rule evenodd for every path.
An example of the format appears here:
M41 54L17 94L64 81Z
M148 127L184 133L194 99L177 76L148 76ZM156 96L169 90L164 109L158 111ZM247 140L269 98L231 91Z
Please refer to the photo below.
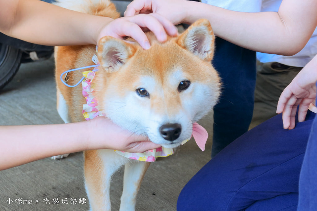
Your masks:
M159 41L166 32L176 35L177 29L158 16L119 18L88 15L64 9L39 0L0 0L0 32L36 44L50 46L97 44L106 35L131 36L143 48L149 48L140 27L149 28ZM113 27L116 26L116 27Z

